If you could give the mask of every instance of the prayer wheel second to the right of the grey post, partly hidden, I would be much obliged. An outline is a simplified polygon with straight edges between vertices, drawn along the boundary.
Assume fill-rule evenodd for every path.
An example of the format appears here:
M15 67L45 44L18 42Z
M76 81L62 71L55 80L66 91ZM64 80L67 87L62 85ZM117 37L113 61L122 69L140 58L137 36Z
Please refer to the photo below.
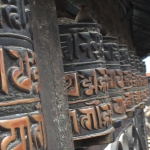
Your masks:
M126 105L124 102L123 72L120 68L120 54L118 39L103 37L104 56L108 71L108 90L112 103L113 121L126 119Z

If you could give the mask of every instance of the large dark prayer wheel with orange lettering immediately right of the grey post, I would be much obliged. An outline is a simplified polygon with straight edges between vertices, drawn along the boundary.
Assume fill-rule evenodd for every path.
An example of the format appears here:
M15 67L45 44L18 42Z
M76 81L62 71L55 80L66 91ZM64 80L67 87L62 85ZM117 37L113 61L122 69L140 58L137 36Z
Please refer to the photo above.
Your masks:
M74 141L114 131L100 28L96 23L59 26Z

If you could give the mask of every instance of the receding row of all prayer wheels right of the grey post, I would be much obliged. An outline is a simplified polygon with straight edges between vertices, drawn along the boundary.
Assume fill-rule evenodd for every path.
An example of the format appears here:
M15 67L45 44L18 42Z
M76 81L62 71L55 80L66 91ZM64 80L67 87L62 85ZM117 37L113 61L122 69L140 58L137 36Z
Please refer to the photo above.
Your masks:
M144 62L96 23L60 25L73 140L112 134L148 100Z

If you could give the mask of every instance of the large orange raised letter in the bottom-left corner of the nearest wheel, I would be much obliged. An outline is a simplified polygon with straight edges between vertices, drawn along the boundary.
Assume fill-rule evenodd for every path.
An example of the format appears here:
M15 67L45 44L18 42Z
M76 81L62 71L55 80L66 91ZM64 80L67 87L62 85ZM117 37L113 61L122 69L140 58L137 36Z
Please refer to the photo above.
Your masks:
M4 139L2 139L1 150L7 149L26 150L27 143L25 140L25 131L24 131L25 128L27 128L29 149L33 150L28 117L16 118L11 120L0 120L0 127L11 131L11 135L6 136ZM17 128L19 129L20 132L21 141L13 143L16 140L15 129Z

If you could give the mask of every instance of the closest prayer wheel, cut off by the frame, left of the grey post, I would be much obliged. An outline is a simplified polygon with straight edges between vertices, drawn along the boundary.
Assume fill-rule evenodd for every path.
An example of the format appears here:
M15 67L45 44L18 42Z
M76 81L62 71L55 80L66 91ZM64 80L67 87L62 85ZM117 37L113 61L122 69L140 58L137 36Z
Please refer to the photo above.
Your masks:
M0 2L0 149L46 150L29 2Z

